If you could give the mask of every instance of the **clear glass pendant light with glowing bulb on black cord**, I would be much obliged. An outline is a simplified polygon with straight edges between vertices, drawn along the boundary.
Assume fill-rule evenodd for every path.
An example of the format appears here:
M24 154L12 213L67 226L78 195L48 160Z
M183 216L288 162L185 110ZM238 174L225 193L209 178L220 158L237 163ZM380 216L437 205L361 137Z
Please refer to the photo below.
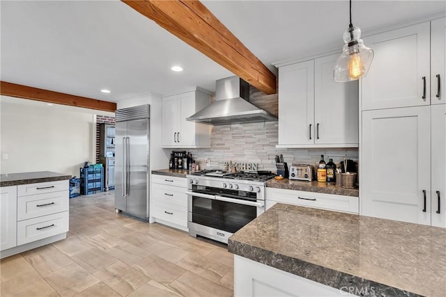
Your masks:
M360 37L361 30L351 23L350 0L350 24L342 36L346 44L342 48L341 56L337 58L334 65L334 81L355 81L360 79L360 77L365 77L367 72L369 72L371 61L374 58L374 51L366 47Z

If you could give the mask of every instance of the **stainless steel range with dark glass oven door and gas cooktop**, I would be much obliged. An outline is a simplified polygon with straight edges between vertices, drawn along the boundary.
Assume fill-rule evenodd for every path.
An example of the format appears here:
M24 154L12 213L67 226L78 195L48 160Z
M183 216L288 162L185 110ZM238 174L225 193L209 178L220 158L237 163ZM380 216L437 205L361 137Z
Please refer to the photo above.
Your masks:
M265 211L264 172L202 170L187 175L187 227L191 236L228 243L228 238Z

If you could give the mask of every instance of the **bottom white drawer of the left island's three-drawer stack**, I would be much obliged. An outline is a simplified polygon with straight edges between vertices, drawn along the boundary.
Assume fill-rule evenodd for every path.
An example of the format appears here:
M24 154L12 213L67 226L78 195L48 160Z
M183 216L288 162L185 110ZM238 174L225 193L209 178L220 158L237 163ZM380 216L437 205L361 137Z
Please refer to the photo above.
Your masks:
M68 211L17 222L17 246L68 232Z

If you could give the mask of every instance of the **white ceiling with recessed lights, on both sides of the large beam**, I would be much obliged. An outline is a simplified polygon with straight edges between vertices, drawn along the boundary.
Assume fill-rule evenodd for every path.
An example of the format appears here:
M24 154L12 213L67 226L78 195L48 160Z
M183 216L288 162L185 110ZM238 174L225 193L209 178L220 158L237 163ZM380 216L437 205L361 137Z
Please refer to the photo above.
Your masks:
M348 26L345 0L203 3L272 70L271 63L341 47ZM232 75L121 1L1 0L0 9L2 81L114 102L215 90L216 79ZM356 0L353 24L370 31L444 10L444 0Z

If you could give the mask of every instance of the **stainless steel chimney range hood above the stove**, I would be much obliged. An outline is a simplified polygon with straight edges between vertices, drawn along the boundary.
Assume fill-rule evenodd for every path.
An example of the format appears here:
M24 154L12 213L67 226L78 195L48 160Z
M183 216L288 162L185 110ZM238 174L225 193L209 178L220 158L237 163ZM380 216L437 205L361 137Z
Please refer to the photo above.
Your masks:
M277 121L277 116L249 103L249 83L240 77L219 79L215 85L215 102L186 120L210 125Z

